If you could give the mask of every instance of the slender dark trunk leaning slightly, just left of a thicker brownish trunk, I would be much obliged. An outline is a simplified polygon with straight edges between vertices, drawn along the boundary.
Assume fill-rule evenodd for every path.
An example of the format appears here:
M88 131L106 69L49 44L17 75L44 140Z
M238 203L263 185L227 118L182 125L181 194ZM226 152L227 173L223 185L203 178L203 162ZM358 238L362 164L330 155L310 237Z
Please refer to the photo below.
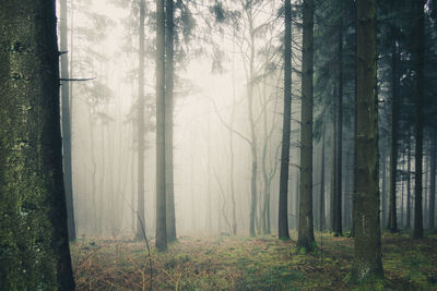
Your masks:
M290 239L288 234L288 169L290 169L290 131L292 119L292 3L285 0L285 51L284 51L284 117L282 123L282 150L279 199L280 239Z

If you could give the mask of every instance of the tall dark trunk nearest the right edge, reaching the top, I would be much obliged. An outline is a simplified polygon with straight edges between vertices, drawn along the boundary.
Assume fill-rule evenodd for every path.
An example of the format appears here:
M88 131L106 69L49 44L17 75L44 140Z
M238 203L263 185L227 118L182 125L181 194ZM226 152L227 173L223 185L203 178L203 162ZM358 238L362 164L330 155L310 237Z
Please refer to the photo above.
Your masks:
M423 163L423 96L424 96L424 53L425 53L425 16L424 1L414 2L416 12L415 35L415 71L416 71L416 150L415 150L415 183L414 183L414 230L413 238L423 238L422 214L422 163Z

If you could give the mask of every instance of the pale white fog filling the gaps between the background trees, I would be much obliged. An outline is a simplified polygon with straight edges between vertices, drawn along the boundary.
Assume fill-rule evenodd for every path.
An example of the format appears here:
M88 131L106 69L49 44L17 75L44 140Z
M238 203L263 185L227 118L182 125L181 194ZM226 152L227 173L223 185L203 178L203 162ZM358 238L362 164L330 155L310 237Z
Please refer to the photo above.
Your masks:
M68 15L70 75L93 78L70 83L78 235L132 237L138 220L139 136L134 121L138 110L138 4L116 2L75 0ZM238 9L238 3L229 3ZM238 32L234 28L233 36L232 26L216 23L211 5L186 4L196 28L179 36L176 47L174 187L177 234L232 233L232 193L237 233L248 234L252 162L248 142L250 47L247 39L250 38L247 29L241 28L248 25L247 19L240 17L241 27ZM255 25L269 23L255 40L255 73L260 76L253 86L252 112L258 162L257 232L261 232L260 217L267 191L270 193L269 219L273 232L277 225L283 116L283 56L277 50L283 23L276 16L280 4L280 1L268 1L253 16ZM151 16L154 9L153 2L146 3L144 90L145 122L150 126L144 136L144 202L145 229L151 237L155 233L156 199L155 32ZM288 191L290 226L294 228L299 163L300 34L299 28L294 31ZM268 65L275 66L267 70ZM316 166L320 163L319 148L316 143ZM319 179L320 174L315 172L315 178ZM269 177L267 186L265 177ZM317 179L315 193L318 191ZM329 181L329 177L326 179Z

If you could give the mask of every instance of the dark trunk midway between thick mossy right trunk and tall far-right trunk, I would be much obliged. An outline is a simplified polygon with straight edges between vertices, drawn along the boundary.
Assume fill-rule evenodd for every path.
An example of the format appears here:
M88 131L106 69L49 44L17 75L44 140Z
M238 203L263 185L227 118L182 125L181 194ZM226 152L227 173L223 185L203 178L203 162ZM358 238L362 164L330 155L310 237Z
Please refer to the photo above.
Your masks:
M394 34L393 34L394 35ZM390 146L390 207L389 226L391 233L398 232L397 173L398 173L398 52L393 37L391 45L391 146Z

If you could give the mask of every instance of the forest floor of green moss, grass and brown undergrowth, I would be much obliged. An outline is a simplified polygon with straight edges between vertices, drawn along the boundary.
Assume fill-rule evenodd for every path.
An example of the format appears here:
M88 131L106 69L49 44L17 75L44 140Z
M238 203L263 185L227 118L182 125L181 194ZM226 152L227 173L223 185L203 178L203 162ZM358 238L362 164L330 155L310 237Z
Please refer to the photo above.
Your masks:
M353 239L316 233L310 254L295 239L181 237L149 256L144 242L82 238L71 255L78 290L437 290L436 234L385 233L385 280L371 286L351 283Z

